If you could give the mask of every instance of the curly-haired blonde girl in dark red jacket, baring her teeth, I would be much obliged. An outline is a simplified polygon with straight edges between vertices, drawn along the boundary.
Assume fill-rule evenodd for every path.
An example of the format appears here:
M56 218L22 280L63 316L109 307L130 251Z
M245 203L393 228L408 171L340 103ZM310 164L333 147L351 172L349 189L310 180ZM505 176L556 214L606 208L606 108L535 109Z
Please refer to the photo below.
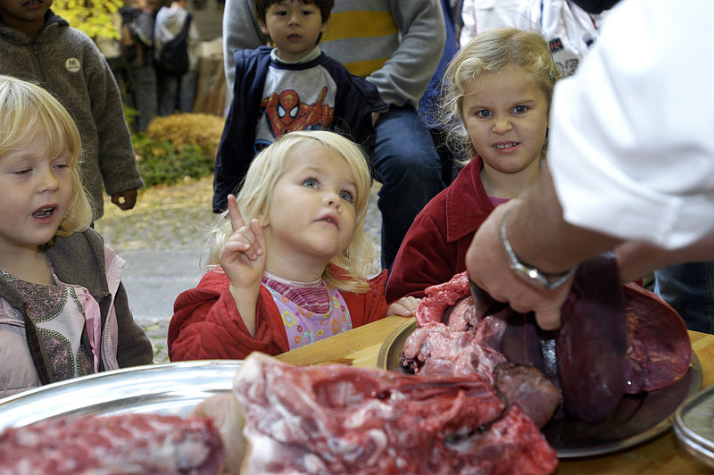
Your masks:
M489 29L454 56L440 115L450 148L466 165L404 237L387 302L421 297L429 285L465 271L471 238L488 214L535 181L558 78L550 47L535 32Z

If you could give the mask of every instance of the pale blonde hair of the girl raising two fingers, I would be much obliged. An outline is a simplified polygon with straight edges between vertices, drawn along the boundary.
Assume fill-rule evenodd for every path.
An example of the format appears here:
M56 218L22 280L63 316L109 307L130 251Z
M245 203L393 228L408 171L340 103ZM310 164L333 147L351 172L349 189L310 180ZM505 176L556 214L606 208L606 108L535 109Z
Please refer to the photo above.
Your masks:
M237 195L238 209L245 222L258 216L267 215L270 212L273 188L285 170L287 157L300 146L315 142L328 147L345 159L353 172L357 188L357 194L354 197L356 223L352 239L345 252L336 255L330 261L331 264L344 269L345 272L340 271L339 275L335 275L335 269L328 265L322 279L340 290L365 293L369 291L369 282L367 282L366 276L374 267L372 244L364 232L371 175L366 155L361 147L351 140L325 130L294 131L278 137L251 162ZM219 264L220 248L231 234L230 217L228 212L223 212L218 225L212 229L211 254L208 262L210 265ZM270 249L268 252L270 253Z

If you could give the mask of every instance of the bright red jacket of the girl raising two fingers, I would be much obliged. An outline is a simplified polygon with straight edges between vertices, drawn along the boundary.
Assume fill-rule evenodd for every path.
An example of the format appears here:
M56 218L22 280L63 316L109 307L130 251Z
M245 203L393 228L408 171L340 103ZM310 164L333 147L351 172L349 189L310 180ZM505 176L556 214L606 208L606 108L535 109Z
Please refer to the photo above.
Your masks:
M350 310L353 328L386 316L386 271L369 280L369 292L341 291ZM253 351L281 354L290 349L285 326L270 291L261 286L251 337L230 295L228 276L207 272L198 287L182 292L174 303L169 324L171 361L244 359Z

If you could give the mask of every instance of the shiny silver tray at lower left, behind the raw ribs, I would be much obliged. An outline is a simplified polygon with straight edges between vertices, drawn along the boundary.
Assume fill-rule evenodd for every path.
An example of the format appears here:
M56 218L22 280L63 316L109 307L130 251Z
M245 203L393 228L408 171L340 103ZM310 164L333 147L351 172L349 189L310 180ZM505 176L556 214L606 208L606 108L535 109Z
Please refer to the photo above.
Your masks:
M161 413L186 417L227 393L241 360L147 364L37 387L0 399L0 430L69 414Z

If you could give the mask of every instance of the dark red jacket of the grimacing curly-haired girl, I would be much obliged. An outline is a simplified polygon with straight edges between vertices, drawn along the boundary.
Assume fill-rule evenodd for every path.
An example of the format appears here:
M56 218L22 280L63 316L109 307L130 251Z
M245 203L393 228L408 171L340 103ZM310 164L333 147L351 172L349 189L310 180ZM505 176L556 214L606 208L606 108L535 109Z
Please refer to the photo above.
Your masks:
M466 271L466 251L494 204L480 178L481 158L459 172L449 187L424 206L396 254L386 282L386 301L423 297L424 289Z

